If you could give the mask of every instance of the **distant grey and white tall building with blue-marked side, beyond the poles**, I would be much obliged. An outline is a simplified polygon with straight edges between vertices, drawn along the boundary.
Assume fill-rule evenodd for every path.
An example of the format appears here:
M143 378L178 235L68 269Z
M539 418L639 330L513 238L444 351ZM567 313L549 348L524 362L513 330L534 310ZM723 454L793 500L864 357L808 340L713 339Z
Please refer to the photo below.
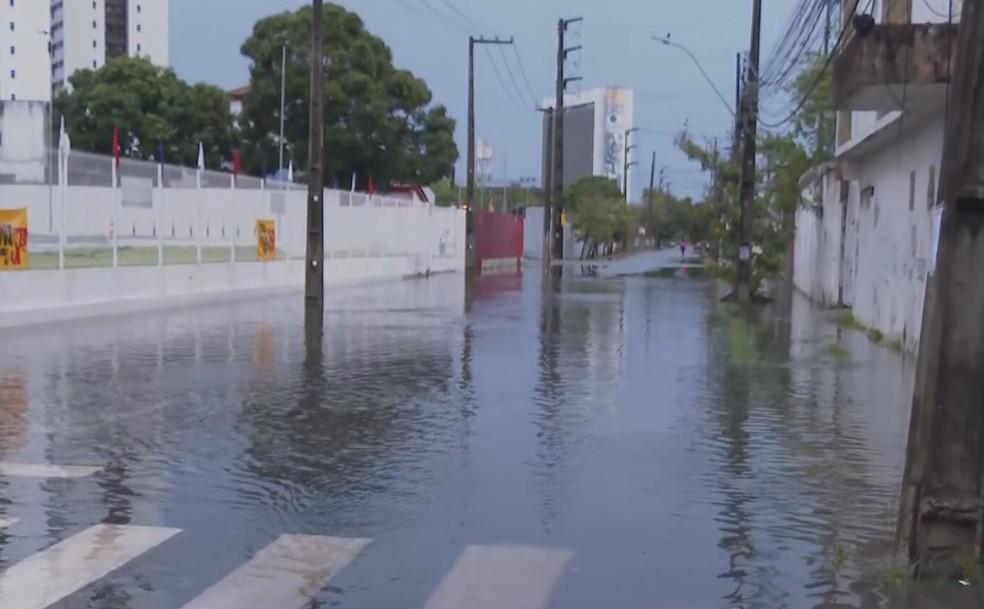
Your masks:
M545 102L553 107L552 101ZM549 183L553 139L551 121L543 124L543 182ZM626 132L633 127L633 95L629 89L591 89L564 98L564 188L585 176L606 176L624 185ZM631 160L631 159L629 159ZM629 174L629 192L632 175Z

